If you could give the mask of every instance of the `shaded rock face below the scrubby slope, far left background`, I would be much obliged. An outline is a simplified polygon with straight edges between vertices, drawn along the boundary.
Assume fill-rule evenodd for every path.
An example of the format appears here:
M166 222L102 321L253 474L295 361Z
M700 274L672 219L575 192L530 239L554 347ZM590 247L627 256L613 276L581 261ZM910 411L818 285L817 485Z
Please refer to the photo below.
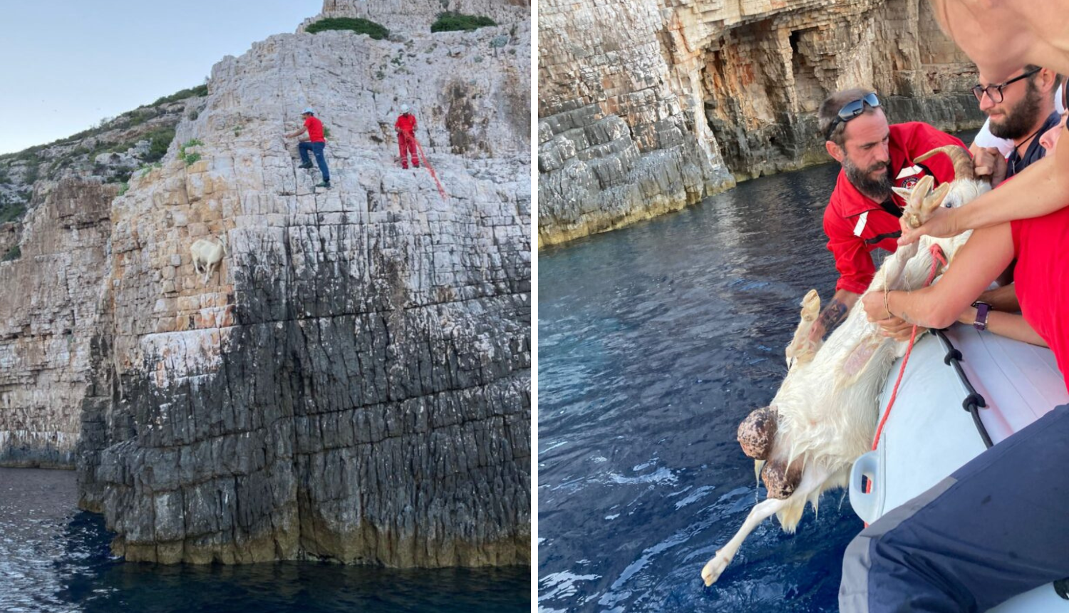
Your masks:
M96 394L93 338L118 190L78 179L43 188L21 256L0 264L0 464L74 465L78 409Z

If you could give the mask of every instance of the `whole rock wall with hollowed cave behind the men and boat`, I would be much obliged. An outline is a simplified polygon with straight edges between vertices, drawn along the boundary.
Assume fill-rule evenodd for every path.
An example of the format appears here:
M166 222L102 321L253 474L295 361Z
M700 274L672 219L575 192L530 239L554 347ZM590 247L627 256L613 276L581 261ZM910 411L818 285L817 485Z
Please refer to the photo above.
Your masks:
M547 0L539 28L539 243L826 162L816 110L874 88L890 121L982 121L975 66L924 0Z

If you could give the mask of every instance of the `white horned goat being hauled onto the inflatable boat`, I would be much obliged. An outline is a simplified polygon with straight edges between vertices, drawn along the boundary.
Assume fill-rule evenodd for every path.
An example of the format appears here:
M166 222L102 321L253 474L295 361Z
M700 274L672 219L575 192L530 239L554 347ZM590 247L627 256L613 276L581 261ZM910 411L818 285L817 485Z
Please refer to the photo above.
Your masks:
M939 152L954 160L954 182L931 191L933 181L925 177L912 191L895 188L907 199L903 216L913 228L931 217L944 199L960 206L991 189L974 179L972 159L960 147L932 150L917 162ZM877 271L866 293L919 288L931 267L930 245L938 243L949 262L967 234L925 236L899 247ZM754 506L742 528L706 564L701 570L706 585L719 578L746 536L772 515L785 532L793 533L806 503L816 510L822 492L845 487L851 464L872 444L881 410L880 390L908 343L881 336L859 304L823 346L809 342L819 312L820 296L817 290L809 290L802 300L802 322L787 348L787 377L772 404L754 411L739 426L739 443L755 459L769 495Z

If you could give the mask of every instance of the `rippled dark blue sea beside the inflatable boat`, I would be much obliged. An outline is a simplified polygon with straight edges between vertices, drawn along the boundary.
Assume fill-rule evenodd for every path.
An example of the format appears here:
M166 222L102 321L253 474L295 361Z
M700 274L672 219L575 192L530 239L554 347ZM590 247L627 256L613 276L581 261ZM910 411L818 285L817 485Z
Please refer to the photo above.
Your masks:
M699 576L757 500L739 422L772 399L810 288L837 165L539 254L539 610L837 611L862 530L830 492L797 534L765 521ZM763 487L760 490L763 499Z

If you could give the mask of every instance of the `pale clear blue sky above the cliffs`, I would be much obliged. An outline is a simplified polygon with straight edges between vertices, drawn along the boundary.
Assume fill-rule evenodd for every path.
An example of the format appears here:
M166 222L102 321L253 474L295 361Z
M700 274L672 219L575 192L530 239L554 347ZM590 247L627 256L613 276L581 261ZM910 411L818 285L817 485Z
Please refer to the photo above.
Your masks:
M322 0L0 1L0 154L199 86Z

